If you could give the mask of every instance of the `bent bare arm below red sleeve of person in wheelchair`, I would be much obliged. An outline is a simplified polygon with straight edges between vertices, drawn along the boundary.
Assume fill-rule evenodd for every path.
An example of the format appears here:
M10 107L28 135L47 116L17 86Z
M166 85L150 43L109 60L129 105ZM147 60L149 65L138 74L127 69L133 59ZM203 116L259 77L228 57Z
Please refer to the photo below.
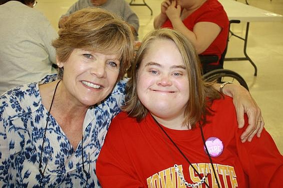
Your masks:
M181 32L193 43L198 54L204 52L221 31L219 25L208 21L197 22L193 30L189 30L180 17L181 7L176 5L175 0L168 6L166 15L170 19L173 28Z

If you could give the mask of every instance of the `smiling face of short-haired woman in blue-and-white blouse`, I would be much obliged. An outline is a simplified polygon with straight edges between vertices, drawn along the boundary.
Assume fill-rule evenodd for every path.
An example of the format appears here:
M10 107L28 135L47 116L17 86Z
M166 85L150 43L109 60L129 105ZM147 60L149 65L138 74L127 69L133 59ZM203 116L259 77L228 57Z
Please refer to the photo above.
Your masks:
M116 54L74 49L64 67L65 97L77 105L91 106L104 100L112 91L119 75Z

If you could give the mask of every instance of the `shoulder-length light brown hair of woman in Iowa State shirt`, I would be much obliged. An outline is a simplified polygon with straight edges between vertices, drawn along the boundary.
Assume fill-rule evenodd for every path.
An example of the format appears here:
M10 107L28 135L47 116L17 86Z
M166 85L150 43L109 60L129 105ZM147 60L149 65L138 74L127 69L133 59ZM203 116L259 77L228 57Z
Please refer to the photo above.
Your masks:
M128 112L129 116L136 117L138 121L141 121L147 115L148 110L142 105L137 95L137 72L141 61L147 54L147 51L150 50L150 44L154 40L159 39L172 40L176 44L186 67L190 97L185 108L183 124L190 125L192 128L195 127L197 122L200 125L204 125L206 123L206 115L211 114L209 104L211 104L213 99L219 98L220 94L212 87L211 83L203 81L198 54L192 43L180 32L168 28L153 30L141 42L131 68L131 79L127 83L126 105L123 107L123 110ZM210 102L207 100L210 100Z

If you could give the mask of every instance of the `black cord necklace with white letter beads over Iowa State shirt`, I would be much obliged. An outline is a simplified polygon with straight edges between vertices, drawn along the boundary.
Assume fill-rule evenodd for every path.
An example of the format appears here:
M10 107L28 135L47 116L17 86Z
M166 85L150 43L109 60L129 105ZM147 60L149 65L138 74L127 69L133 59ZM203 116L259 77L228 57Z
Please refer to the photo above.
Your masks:
M177 175L180 177L180 179L181 179L181 181L182 181L182 183L183 184L185 184L185 186L186 187L198 187L198 186L200 186L201 184L205 184L208 188L210 188L209 186L208 186L208 184L206 183L206 177L205 176L203 176L203 177L201 177L201 175L197 172L197 170L193 167L193 165L191 164L191 162L188 160L188 158L185 156L185 154L180 150L180 148L176 145L176 143L171 139L171 137L166 133L166 131L161 127L161 125L156 121L156 119L152 116L152 114L150 114L151 115L151 117L154 119L154 121L155 121L155 123L158 125L158 127L162 130L162 132L168 137L168 139L171 141L171 143L175 146L175 148L179 151L179 153L184 157L184 159L189 163L189 165L193 168L193 170L194 170L194 172L197 174L197 176L200 178L200 182L198 182L198 183L195 183L195 184L189 184L189 183L187 183L186 182L186 180L185 180L185 178L183 177L183 175L181 174L181 171L179 170L179 168L178 168L178 165L177 164L175 164L174 165L174 168L175 168L175 171L177 172ZM207 147L206 147L206 144L205 144L205 141L204 141L204 135L203 135L203 132L202 132L202 128L200 127L200 131L201 131L201 137L202 137L202 141L203 141L203 143L204 143L204 146L205 146L205 150L206 150L206 153L207 153L207 155L208 155L208 158L209 158L209 161L210 161L210 163L211 163L211 165L212 165L212 169L213 169L213 173L214 173L214 177L215 177L215 179L216 179L216 182L217 182L217 186L218 186L218 188L220 188L220 186L219 186L219 182L218 182L218 179L217 179L217 177L216 177L216 174L215 174L215 170L214 170L214 167L213 167L213 163L212 163L212 160L211 160L211 157L210 157L210 155L209 155L209 152L208 152L208 150L207 150Z

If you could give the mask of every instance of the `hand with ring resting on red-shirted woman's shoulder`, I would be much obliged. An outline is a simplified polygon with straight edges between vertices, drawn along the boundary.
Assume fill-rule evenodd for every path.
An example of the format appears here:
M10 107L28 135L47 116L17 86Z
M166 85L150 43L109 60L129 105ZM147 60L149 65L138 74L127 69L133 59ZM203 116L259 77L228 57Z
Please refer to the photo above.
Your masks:
M239 128L244 126L244 113L247 114L248 126L241 135L241 142L250 142L255 134L257 137L260 137L264 121L261 116L260 108L257 106L250 93L244 87L237 84L227 84L223 88L223 93L233 97Z

